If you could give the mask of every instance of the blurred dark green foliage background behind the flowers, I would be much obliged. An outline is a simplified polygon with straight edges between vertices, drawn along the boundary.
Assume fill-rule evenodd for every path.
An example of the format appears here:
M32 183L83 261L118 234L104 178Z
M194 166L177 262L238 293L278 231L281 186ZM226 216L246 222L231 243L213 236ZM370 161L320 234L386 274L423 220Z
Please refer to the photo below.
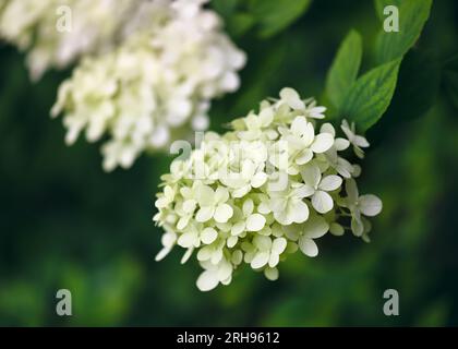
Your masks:
M266 2L214 2L249 62L240 91L214 104L213 130L284 86L323 101L346 34L354 28L374 48L381 31L366 0L276 1L278 11ZM23 56L3 45L0 325L458 325L457 52L458 3L435 1L391 105L367 133L375 146L362 190L384 202L370 244L326 236L316 258L296 254L276 282L243 268L230 286L202 293L198 266L181 266L179 251L154 262L161 233L150 220L154 194L171 157L143 156L129 171L104 173L97 146L67 147L60 121L49 118L70 72L32 84ZM56 315L60 288L72 291L71 317ZM388 288L399 291L400 316L383 314Z

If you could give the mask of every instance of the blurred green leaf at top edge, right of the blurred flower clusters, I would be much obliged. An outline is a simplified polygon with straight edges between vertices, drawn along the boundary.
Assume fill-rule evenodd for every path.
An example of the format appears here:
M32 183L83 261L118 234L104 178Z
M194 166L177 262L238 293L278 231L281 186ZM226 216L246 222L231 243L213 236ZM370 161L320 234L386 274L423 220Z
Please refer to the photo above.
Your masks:
M273 36L300 17L311 0L252 0L250 13L256 17L260 36Z

